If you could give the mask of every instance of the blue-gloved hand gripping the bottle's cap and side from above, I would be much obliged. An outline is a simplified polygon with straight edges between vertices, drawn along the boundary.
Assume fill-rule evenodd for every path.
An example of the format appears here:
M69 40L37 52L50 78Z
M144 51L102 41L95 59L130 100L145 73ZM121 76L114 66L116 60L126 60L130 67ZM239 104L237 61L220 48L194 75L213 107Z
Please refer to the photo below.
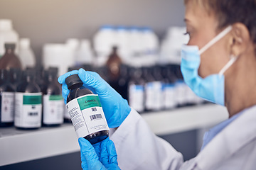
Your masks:
M68 86L65 83L65 79L70 75L78 74L84 86L90 89L94 94L98 94L100 98L100 103L102 104L105 117L107 119L107 124L110 128L117 128L122 124L127 115L129 115L131 108L128 105L127 100L124 100L120 94L115 91L110 84L107 84L99 74L95 72L87 72L84 69L74 70L63 74L58 78L62 86L62 94L67 101L67 96L69 94Z

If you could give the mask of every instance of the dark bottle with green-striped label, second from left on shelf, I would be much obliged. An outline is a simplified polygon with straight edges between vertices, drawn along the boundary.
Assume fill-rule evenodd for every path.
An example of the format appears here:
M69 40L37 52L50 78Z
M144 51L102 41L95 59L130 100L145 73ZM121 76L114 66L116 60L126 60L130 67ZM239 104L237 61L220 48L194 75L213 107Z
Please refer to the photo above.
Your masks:
M41 128L42 93L35 81L35 72L23 72L23 80L15 94L14 125L18 129L33 130Z

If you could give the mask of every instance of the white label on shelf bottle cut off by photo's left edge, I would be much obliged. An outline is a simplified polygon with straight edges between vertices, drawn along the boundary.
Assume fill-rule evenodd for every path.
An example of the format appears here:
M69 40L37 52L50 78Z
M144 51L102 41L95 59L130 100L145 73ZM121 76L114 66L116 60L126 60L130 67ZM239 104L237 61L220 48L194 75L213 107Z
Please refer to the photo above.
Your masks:
M14 122L14 92L1 92L1 123Z

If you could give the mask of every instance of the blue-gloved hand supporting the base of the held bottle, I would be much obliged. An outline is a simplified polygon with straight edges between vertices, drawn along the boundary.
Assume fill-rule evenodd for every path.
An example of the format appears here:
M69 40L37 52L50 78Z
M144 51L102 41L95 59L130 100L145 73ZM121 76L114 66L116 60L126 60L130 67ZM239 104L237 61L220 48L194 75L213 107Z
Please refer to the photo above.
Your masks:
M81 149L83 170L119 169L114 142L109 137L93 146L82 137L78 139L78 142Z

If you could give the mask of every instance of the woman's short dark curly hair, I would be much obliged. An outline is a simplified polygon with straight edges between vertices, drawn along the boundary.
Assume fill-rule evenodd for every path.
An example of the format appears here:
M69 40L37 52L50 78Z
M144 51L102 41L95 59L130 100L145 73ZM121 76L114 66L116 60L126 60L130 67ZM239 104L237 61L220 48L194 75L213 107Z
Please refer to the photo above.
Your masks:
M243 23L250 32L256 52L256 0L184 0L206 8L208 13L215 13L218 28L225 28L234 23Z

